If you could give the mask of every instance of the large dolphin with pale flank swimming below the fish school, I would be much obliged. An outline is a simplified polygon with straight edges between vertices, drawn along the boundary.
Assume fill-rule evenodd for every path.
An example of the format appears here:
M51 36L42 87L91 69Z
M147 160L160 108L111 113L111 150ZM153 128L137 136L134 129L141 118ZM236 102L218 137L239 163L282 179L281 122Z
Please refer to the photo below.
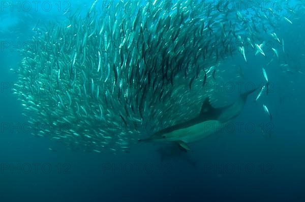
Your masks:
M139 141L175 142L180 146L180 149L191 150L187 143L201 140L225 127L231 119L240 114L248 95L255 90L240 94L234 103L220 108L212 107L207 97L197 117L162 129L146 139L139 139Z

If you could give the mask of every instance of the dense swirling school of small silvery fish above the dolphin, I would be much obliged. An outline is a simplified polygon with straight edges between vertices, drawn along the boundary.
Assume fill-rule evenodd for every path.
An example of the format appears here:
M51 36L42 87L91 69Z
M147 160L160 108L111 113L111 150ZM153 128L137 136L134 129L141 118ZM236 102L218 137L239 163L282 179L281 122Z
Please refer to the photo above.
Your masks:
M268 40L278 59L277 25L293 23L280 8L221 9L228 1L99 4L60 24L37 24L33 41L44 48L23 51L14 88L29 123L48 126L34 135L95 152L128 152L143 134L196 114L223 61L265 56ZM264 68L263 75L256 100L268 92Z

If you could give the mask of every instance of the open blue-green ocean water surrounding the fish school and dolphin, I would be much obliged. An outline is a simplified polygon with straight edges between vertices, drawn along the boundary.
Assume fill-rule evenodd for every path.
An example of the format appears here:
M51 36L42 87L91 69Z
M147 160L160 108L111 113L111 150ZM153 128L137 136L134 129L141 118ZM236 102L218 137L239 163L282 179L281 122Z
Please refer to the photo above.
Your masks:
M88 9L92 3L70 4ZM240 130L234 125L192 143L188 153L174 148L177 155L162 156L158 144L139 143L129 153L112 155L71 150L26 130L23 106L12 91L17 76L9 71L22 57L5 45L30 40L37 19L47 24L63 17L56 10L11 11L2 2L0 200L305 201L303 11L290 14L293 24L283 21L277 32L285 41L280 59L292 70L281 70L276 60L270 63L270 92L260 102L254 102L256 94L249 97L235 119ZM264 82L261 67L269 59L253 53L245 64L236 54L224 65L241 65L245 80L259 84Z

